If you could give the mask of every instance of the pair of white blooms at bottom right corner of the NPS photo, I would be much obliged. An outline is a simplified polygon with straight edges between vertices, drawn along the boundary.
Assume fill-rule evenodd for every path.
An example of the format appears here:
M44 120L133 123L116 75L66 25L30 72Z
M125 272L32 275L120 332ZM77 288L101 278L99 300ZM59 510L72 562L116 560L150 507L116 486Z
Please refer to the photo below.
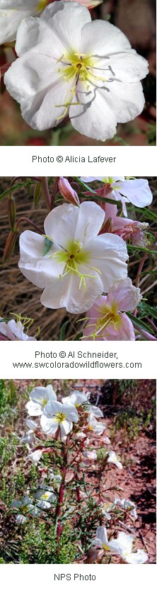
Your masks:
M104 551L109 551L111 553L120 555L121 558L128 564L144 564L148 559L148 555L146 552L144 552L144 550L139 549L136 553L132 553L133 541L134 538L132 536L128 536L127 533L124 533L124 531L121 531L118 534L117 539L110 539L110 541L108 541L105 527L98 527L96 531L96 538L93 543L95 543L95 546L98 546L98 548L101 548Z

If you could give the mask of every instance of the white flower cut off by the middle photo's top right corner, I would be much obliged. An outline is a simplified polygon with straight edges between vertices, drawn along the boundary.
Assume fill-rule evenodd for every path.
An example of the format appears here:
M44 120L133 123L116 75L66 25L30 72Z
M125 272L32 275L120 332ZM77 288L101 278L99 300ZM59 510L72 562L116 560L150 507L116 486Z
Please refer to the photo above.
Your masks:
M103 181L110 185L111 198L122 201L124 215L127 216L127 203L131 202L138 208L149 206L153 194L147 179L127 179L127 177L81 177L82 181Z

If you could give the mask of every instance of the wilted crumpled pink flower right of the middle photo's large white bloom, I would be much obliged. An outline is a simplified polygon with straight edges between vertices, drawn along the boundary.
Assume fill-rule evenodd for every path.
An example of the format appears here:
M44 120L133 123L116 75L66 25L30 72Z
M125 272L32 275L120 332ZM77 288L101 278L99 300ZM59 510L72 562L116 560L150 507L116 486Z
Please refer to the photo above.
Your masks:
M148 222L138 222L132 218L122 218L117 216L117 205L105 203L103 206L105 210L105 225L101 230L103 232L112 232L114 235L122 237L124 241L132 241L136 247L145 247L148 240L144 234L144 230L149 226Z

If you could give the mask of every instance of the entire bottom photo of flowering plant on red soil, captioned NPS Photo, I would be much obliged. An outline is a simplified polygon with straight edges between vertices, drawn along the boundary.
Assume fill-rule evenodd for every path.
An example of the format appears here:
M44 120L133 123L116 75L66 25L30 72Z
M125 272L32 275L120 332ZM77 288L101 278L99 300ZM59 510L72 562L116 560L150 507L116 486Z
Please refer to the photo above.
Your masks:
M156 381L0 380L0 563L156 563Z

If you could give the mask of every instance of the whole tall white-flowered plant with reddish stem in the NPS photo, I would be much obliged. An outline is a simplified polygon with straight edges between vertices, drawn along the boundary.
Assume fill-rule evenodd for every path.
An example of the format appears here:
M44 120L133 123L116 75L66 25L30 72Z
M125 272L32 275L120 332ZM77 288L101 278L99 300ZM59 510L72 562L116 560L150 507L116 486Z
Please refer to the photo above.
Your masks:
M35 465L37 482L22 497L12 499L11 511L19 528L31 522L37 529L41 521L47 529L54 525L59 553L68 518L79 533L82 562L88 558L114 563L117 558L120 563L146 563L146 551L133 548L136 504L112 496L117 485L111 490L106 486L112 466L121 472L123 468L104 436L103 412L91 403L91 394L74 390L58 400L52 385L37 386L30 391L26 410L29 430L21 441L25 464Z

